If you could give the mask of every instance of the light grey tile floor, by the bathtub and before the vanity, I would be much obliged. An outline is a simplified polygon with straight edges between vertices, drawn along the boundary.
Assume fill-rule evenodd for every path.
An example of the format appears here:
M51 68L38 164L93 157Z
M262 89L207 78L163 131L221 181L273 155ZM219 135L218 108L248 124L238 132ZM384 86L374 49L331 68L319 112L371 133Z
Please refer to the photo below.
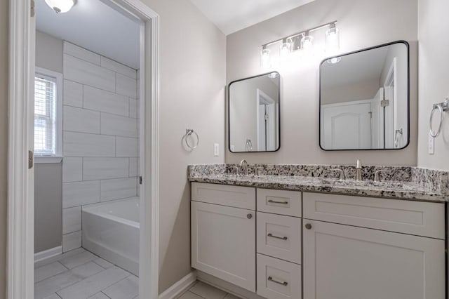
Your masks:
M35 299L136 299L138 277L83 248L34 265ZM197 281L178 299L239 299Z

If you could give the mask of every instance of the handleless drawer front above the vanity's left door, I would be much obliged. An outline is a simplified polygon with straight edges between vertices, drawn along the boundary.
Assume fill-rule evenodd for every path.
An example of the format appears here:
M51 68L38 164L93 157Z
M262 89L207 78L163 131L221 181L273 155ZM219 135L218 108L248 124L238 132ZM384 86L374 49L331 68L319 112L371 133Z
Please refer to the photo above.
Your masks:
M192 182L192 201L255 210L255 188Z

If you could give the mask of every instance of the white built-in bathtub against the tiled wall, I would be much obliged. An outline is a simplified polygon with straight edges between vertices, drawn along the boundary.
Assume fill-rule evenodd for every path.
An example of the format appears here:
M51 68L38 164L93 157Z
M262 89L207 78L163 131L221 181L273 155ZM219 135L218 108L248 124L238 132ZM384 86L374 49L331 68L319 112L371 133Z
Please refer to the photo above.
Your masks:
M83 247L138 276L139 198L83 207Z

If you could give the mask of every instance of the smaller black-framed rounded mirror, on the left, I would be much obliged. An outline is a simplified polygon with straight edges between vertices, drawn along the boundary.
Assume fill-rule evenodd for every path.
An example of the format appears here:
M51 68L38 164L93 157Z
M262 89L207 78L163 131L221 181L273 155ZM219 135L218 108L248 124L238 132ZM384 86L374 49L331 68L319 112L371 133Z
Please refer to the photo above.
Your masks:
M280 147L278 72L232 81L228 87L229 150L275 152Z

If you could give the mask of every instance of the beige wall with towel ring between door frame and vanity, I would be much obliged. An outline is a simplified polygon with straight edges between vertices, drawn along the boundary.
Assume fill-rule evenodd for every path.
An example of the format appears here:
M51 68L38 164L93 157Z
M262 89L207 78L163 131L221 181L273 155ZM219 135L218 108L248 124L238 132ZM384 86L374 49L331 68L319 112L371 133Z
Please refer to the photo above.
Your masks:
M190 272L187 165L223 163L226 38L188 0L143 0L161 16L160 281L163 291ZM185 150L192 128L199 147ZM213 157L213 143L220 157Z

